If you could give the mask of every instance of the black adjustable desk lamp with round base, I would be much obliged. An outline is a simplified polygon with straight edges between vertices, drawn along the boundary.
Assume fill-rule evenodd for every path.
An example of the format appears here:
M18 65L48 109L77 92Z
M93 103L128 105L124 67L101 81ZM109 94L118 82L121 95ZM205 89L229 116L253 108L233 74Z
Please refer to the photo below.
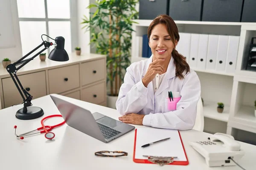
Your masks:
M45 35L45 34L43 34ZM41 38L42 36L41 35ZM47 36L47 35L45 35ZM47 36L49 37L49 36ZM52 39L51 37L49 37ZM42 38L43 40L43 38ZM54 40L54 39L52 39ZM67 51L64 49L65 39L64 37L56 37L55 38L55 48L50 52L48 58L53 61L68 61L69 57L67 55ZM40 48L44 45L44 49L39 51L37 54L35 54L33 57L29 59L25 59L30 54L32 54L35 50ZM20 58L17 62L14 62L13 64L10 64L6 67L6 70L11 75L12 80L14 81L18 91L20 92L21 97L23 98L24 107L17 111L16 118L21 120L31 120L36 119L38 117L41 117L44 115L43 109L39 107L32 106L31 100L33 96L31 96L21 85L20 80L17 77L17 71L22 68L24 65L26 65L28 62L30 62L32 59L37 57L39 54L41 54L44 50L48 49L51 45L53 45L52 42L44 41L41 43L41 45L38 45L35 49L30 51L28 54L26 54L24 57ZM20 65L18 68L16 68L17 65ZM15 78L14 78L15 77ZM16 80L17 82L16 82ZM18 86L20 85L20 87ZM23 92L23 93L22 93ZM22 103L22 104L23 104Z

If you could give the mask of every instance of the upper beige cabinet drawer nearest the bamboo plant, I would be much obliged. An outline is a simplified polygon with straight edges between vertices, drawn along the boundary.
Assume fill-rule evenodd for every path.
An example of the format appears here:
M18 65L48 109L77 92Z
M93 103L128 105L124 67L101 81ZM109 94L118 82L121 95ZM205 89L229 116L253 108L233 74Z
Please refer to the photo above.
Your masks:
M105 79L104 59L81 64L82 85Z

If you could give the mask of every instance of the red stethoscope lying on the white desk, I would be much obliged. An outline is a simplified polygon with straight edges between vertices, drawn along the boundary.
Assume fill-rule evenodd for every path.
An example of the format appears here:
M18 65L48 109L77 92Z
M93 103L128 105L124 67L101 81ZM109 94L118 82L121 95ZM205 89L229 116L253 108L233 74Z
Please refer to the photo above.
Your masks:
M45 137L46 139L53 139L53 138L55 137L55 134L54 134L53 132L49 132L49 131L51 131L51 130L52 130L53 128L55 128L55 127L59 127L59 126L63 125L63 124L65 123L65 121L59 123L58 125L45 126L45 125L44 125L44 120L45 120L45 119L48 119L48 118L50 118L50 117L62 117L62 116L59 115L59 114L46 116L46 117L44 117L44 118L41 120L41 125L42 125L42 127L39 127L39 128L37 128L36 130L32 130L32 131L29 131L29 132L26 132L26 133L23 133L23 134L20 134L20 135L17 135L17 134L16 134L16 128L17 128L17 126L15 125L15 126L14 126L14 134L15 134L15 136L16 136L17 138L24 139L24 136L31 136L31 135L35 135L35 134L39 134L39 133L45 133L44 137ZM42 130L42 129L44 129L44 130ZM37 131L37 130L38 130L38 131L41 130L41 131L35 132L35 131ZM34 132L34 133L32 133L32 132Z

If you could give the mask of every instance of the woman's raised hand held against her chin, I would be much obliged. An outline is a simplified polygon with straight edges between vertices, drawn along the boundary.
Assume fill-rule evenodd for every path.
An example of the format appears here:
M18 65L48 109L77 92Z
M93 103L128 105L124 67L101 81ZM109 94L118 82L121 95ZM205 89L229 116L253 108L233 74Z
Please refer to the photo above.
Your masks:
M163 66L159 62L163 61L162 59L155 59L149 64L148 70L143 77L142 82L145 87L148 87L148 84L154 79L157 74L163 74Z

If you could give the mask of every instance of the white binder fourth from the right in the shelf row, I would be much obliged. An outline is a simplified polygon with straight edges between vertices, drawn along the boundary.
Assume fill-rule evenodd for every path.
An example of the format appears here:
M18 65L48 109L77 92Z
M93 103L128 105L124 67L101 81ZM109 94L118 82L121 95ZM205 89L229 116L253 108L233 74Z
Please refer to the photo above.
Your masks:
M208 34L200 34L199 35L197 68L202 69L202 70L204 70L206 67L208 37L209 37Z

